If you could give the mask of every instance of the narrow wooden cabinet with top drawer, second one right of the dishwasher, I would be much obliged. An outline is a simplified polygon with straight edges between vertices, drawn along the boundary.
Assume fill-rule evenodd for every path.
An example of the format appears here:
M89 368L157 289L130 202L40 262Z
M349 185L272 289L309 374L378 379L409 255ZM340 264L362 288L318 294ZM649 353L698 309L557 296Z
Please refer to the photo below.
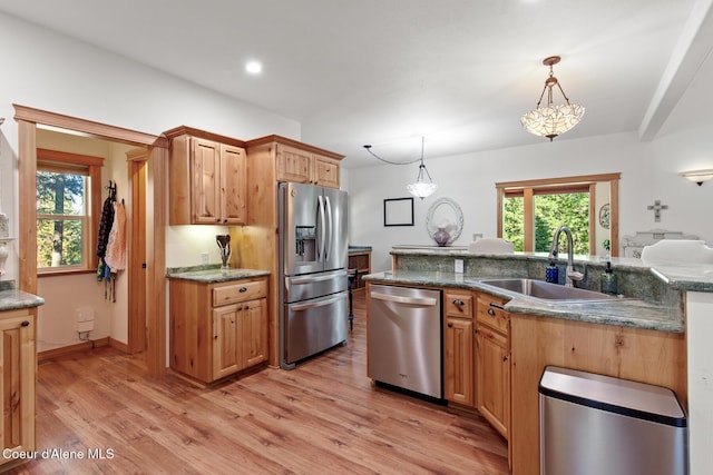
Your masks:
M510 433L510 316L507 300L477 294L476 407L505 437Z

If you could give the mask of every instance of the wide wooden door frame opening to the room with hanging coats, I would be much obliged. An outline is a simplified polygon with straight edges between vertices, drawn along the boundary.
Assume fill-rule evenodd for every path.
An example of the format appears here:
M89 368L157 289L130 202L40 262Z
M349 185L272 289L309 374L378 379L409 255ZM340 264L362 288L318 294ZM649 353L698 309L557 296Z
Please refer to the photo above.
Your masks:
M59 127L90 136L147 147L146 169L146 366L150 375L166 373L166 188L168 140L106 123L26 106L14 107L18 122L18 287L37 294L37 204L22 196L37 195L37 125ZM37 308L31 309L37 316ZM131 347L129 333L129 347Z

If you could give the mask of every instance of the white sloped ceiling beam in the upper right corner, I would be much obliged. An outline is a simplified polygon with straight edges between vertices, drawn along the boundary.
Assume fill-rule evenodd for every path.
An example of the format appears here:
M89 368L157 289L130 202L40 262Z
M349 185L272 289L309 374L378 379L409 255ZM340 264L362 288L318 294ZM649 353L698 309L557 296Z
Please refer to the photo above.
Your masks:
M683 28L638 128L642 141L653 140L713 50L713 0L699 0Z

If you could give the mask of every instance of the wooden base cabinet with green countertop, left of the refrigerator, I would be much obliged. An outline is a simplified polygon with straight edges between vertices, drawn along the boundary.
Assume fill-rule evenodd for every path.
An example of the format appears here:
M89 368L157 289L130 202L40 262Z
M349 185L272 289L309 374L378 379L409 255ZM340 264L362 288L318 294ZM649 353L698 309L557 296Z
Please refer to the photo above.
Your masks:
M267 278L170 280L170 368L213 383L267 360Z

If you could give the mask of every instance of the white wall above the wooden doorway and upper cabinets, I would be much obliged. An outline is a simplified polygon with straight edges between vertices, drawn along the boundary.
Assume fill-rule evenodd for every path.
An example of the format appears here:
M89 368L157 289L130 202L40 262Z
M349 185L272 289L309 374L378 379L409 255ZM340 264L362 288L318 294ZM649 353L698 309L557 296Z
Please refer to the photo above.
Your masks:
M252 139L300 139L300 123L125 58L0 13L0 210L17 235L17 123L13 103L160 135L186 125ZM173 234L167 235L172 246ZM8 273L17 278L17 246ZM170 256L169 256L170 259ZM170 265L170 260L169 260Z

